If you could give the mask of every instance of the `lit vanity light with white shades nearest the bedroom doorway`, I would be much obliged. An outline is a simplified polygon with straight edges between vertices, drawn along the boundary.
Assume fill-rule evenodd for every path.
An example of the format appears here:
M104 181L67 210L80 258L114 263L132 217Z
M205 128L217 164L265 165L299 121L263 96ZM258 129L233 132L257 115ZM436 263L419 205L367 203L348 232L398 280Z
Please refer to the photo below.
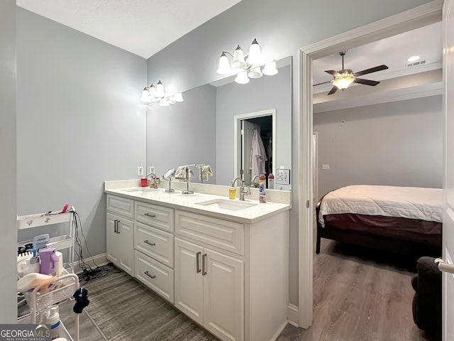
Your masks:
M228 55L231 55L233 62L228 61ZM243 49L238 45L233 52L228 53L223 51L221 57L219 57L218 74L228 75L233 72L238 72L235 82L238 84L246 84L249 82L249 78L260 78L262 75L272 76L277 74L276 60L265 64L262 70L260 70L262 62L262 56L260 55L260 45L255 38L250 44L249 54L244 56Z

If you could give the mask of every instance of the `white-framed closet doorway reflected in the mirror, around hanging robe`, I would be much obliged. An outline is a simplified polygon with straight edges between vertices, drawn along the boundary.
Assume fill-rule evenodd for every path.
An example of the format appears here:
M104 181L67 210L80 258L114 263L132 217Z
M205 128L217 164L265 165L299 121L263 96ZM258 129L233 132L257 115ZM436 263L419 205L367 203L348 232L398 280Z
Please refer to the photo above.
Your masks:
M259 173L275 173L274 161L276 159L276 109L251 112L234 117L235 119L235 176L239 176L245 185L252 185L251 180L258 174L255 167L251 169L250 158L254 130L264 148L265 155L262 171ZM259 141L259 142L260 142Z

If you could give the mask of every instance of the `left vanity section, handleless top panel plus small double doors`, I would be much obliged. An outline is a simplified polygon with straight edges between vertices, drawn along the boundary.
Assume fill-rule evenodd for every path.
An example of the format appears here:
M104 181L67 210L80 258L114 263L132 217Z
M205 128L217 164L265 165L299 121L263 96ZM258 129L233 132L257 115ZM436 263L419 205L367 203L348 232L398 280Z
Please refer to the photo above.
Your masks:
M134 201L107 195L106 258L134 276Z

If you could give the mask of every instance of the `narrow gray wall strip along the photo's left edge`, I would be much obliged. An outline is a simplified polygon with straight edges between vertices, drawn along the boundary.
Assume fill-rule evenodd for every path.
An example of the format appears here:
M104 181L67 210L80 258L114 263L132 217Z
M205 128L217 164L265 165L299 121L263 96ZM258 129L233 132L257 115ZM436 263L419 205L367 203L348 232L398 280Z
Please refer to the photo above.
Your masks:
M0 1L0 323L16 323L16 1Z

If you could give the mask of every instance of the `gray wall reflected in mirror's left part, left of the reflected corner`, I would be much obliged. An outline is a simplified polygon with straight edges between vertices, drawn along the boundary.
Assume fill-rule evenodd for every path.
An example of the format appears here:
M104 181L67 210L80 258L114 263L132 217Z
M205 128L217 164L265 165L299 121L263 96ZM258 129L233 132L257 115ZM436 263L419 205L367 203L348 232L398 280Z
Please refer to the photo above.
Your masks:
M216 180L216 88L204 85L183 94L184 102L147 107L147 163L161 176L170 168L205 163ZM147 169L147 171L149 171ZM199 182L199 169L192 168Z

